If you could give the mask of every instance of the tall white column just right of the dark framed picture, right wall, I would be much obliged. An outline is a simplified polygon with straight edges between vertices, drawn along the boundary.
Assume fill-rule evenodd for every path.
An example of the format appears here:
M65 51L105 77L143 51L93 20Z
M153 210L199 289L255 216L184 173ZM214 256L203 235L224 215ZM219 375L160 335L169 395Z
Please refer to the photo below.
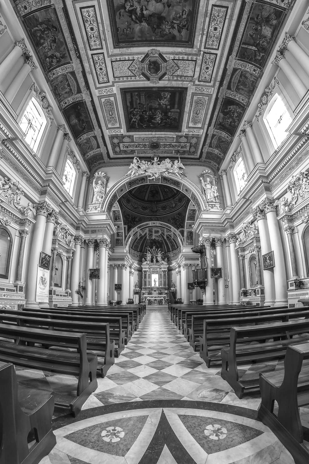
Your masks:
M280 230L277 221L276 207L273 198L266 198L263 201L263 207L266 213L269 236L271 240L271 249L274 252L275 267L275 306L280 306L288 302L286 273L284 264L283 246L280 237Z

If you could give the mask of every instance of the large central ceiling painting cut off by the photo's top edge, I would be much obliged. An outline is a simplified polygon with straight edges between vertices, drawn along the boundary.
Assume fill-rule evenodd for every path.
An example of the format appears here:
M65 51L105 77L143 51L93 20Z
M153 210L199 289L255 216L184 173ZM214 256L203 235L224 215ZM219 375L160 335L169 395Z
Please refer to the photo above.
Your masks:
M192 47L199 0L107 0L114 47Z

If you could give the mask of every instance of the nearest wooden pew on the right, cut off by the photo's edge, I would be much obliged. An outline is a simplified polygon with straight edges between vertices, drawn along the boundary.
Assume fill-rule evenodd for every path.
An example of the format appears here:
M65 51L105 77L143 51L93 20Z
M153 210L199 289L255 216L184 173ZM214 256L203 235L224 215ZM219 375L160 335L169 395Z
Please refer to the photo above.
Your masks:
M309 463L309 449L303 445L304 430L298 408L309 405L309 343L288 346L284 369L260 373L262 402L258 417L284 444L296 464ZM274 414L274 402L278 412ZM306 440L308 441L308 429Z

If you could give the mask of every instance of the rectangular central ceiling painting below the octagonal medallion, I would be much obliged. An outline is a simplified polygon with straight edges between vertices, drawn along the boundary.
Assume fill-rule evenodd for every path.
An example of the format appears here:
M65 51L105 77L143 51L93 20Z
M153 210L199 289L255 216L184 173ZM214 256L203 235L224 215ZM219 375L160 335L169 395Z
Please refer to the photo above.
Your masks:
M183 88L121 90L127 130L180 131L186 96Z

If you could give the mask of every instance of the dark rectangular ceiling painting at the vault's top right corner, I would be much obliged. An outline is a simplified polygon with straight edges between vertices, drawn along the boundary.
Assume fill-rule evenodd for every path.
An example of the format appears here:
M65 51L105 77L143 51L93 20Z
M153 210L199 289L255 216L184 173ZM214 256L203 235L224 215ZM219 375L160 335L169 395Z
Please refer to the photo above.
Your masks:
M238 58L259 67L265 64L286 10L265 2L254 2L241 39Z

